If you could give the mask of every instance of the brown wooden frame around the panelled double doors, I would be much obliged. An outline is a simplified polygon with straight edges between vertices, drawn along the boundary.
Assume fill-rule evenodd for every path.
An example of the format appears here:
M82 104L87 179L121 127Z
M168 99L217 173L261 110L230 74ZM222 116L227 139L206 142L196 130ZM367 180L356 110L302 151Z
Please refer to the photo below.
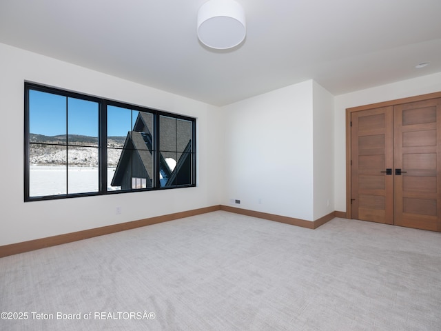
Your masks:
M368 110L372 108L380 108L387 106L396 106L402 103L411 103L415 101L424 101L428 99L441 98L441 92L434 92L429 94L421 94L414 97L407 97L403 99L396 99L390 101L383 101L378 103L371 103L369 105L346 108L346 218L352 219L351 208L351 187L352 187L352 169L351 169L351 114L353 112L360 112L361 110Z

